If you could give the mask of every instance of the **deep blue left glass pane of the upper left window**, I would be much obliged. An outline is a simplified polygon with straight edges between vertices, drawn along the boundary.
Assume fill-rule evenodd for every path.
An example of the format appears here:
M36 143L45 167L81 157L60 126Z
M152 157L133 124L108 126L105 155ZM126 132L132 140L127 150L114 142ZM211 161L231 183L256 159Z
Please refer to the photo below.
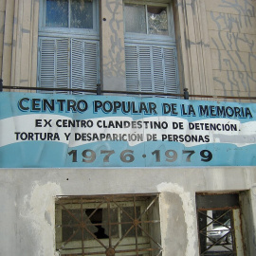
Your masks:
M46 27L68 27L68 0L46 0Z

